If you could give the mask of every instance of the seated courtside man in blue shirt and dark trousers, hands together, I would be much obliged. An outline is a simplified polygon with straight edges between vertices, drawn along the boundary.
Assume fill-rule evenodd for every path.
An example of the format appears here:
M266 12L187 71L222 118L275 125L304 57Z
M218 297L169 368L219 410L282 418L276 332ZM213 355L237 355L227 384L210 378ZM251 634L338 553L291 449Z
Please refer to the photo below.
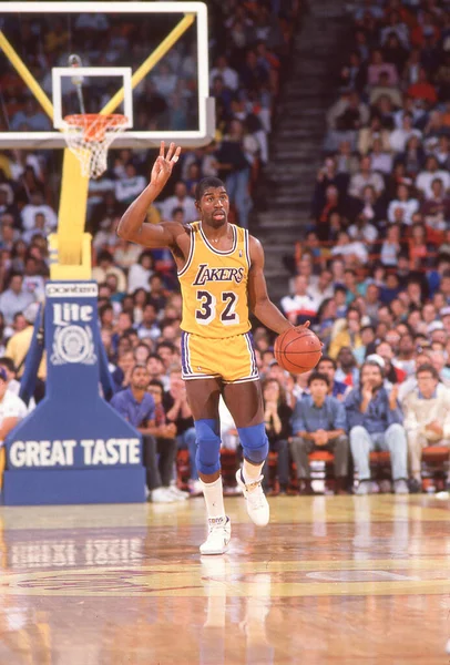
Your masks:
M293 415L290 451L297 468L300 494L314 494L308 453L331 450L335 454L335 493L346 494L348 437L345 408L328 395L330 382L325 374L308 378L310 396L297 400Z

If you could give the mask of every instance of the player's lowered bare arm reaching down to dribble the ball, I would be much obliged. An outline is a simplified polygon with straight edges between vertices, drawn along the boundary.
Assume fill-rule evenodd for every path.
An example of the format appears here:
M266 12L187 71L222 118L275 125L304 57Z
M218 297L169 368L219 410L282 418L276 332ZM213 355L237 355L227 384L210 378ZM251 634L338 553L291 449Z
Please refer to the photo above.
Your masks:
M249 236L250 270L248 275L248 304L253 314L264 326L280 335L294 326L283 316L267 294L264 277L264 249L259 241Z

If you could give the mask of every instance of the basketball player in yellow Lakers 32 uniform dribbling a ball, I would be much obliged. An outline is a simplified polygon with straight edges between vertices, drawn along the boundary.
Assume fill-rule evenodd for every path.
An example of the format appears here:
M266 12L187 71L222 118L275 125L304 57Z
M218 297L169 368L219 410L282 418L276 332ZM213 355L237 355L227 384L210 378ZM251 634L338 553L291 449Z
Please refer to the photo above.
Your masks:
M188 226L144 223L180 152L171 143L165 154L161 143L151 182L124 213L117 234L144 247L168 247L176 262L183 296L183 378L195 421L196 462L208 518L208 536L200 551L222 554L229 542L231 523L225 515L221 477L219 396L234 418L244 449L244 464L236 480L249 518L263 526L269 520L262 488L268 442L248 310L275 332L293 326L268 298L260 243L228 223L229 201L222 181L206 177L198 183L198 222Z

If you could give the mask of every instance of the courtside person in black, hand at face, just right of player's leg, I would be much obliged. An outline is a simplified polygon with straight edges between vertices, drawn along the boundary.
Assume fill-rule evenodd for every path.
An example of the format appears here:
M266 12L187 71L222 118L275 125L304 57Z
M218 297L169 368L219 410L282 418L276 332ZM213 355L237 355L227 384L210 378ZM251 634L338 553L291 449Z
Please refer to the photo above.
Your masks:
M279 381L266 379L263 385L264 422L269 449L277 452L277 478L279 491L286 494L289 484L289 444L292 433L290 417L293 409L286 401L286 395ZM265 485L268 488L268 462L263 468Z

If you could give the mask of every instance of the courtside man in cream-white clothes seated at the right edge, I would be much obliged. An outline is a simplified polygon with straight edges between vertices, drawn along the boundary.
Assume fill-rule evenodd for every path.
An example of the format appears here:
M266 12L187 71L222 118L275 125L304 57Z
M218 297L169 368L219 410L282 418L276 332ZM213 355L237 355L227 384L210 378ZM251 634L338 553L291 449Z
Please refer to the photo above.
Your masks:
M410 490L421 491L422 449L450 447L450 390L439 382L439 374L428 364L416 371L417 388L405 398L405 428L410 460Z

